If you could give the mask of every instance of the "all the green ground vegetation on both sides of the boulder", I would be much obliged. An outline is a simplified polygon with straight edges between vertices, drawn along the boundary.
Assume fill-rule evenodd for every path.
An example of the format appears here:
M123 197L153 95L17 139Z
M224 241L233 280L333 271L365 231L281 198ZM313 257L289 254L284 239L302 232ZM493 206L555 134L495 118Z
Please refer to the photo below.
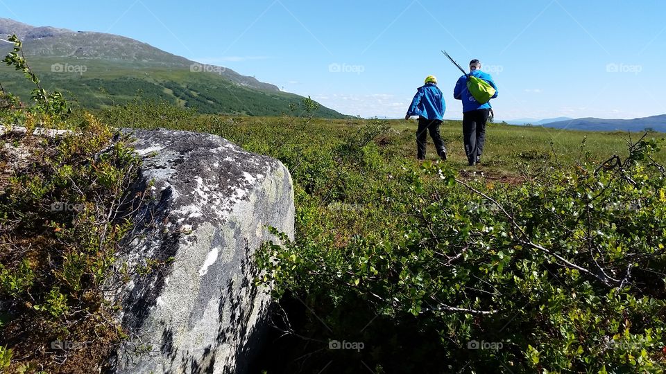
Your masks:
M316 118L306 103L291 110L306 116L253 117L130 100L58 123L78 138L0 138L41 157L0 178L0 368L85 373L131 339L101 290L130 229L106 207L139 161L128 143L89 160L114 129L164 127L223 136L291 172L295 238L255 256L275 305L251 373L663 372L662 134L489 124L470 167L460 121L441 127L447 161L430 139L418 161L415 121ZM44 215L53 202L85 209ZM91 348L31 353L54 339Z

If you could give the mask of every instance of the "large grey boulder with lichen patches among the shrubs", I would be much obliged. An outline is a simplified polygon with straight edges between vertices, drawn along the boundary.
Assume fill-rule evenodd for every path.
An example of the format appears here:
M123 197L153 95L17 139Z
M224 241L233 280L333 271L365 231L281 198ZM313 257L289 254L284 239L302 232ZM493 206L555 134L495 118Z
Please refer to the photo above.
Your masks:
M112 295L130 337L108 371L244 373L270 303L253 283L253 253L277 240L267 226L293 238L289 171L210 134L133 138L143 159L134 195L146 196L119 263L142 271Z

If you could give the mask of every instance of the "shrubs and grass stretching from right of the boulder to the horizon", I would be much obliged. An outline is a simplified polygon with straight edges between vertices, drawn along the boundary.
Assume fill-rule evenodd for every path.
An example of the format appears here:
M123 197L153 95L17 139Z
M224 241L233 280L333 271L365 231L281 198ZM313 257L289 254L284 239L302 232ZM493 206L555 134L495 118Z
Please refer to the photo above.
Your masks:
M178 121L291 171L296 239L257 256L279 300L267 373L663 371L659 134L490 125L469 168L456 121L450 160L419 163L405 121L103 117Z

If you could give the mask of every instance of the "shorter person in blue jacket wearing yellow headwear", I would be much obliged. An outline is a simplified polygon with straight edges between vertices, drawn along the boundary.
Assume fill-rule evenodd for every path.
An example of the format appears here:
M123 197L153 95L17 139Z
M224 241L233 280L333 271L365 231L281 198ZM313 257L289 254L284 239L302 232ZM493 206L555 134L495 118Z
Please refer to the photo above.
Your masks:
M444 95L437 87L437 78L434 75L428 75L425 78L425 84L416 89L416 95L411 100L411 105L404 116L408 120L411 116L418 116L418 128L416 129L416 158L425 160L425 148L427 143L427 131L437 155L446 160L446 147L442 136L439 134L439 126L442 124L446 103Z

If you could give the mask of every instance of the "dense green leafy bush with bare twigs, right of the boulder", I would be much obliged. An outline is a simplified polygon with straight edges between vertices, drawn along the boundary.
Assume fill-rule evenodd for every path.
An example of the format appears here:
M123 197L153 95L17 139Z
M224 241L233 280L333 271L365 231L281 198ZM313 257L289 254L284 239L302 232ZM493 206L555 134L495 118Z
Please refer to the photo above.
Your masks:
M425 175L403 175L411 193L391 204L409 217L400 235L355 236L343 247L265 246L257 281L282 303L307 307L298 324L293 308L276 323L307 337L294 349L307 362L294 355L281 369L662 372L666 179L651 159L658 150L641 139L627 159L512 189L425 163ZM341 341L364 348L336 349Z

